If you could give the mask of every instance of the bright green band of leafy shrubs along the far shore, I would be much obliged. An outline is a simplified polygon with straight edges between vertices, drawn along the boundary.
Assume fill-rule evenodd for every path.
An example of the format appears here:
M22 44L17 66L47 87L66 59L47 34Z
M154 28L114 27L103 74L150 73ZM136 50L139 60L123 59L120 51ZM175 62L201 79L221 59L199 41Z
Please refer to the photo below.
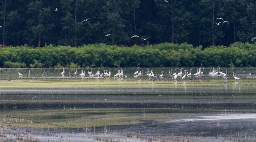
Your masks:
M193 47L192 44L161 43L120 47L29 46L0 48L0 67L255 67L256 44L235 42L230 46Z

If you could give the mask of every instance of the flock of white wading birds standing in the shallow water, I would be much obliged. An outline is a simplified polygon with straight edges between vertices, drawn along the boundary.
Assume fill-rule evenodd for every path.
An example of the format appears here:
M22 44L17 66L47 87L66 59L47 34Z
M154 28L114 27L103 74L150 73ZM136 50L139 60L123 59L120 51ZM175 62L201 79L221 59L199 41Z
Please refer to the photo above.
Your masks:
M90 69L90 71L87 71L88 73L88 77L96 77L96 78L99 78L99 77L106 77L106 78L110 78L110 77L114 77L114 78L127 78L127 76L123 73L123 69L121 68L120 70L118 70L118 73L114 74L114 76L111 75L111 68L109 68L109 71L106 69L103 70L103 73L100 73L100 70L99 68L97 68L97 72L95 74L92 73L92 68ZM143 73L146 74L147 77L149 78L152 78L153 81L155 81L157 79L157 75L155 76L154 73L153 73L153 70L150 70L149 68L147 69L147 71L143 72L143 70L139 70L139 67L137 68L137 71L133 74L134 78L141 78L143 76ZM23 74L20 73L19 69L18 69L18 74L19 74L19 77L22 77ZM60 75L62 77L64 77L66 74L65 72L65 68L63 68L63 71L60 73ZM68 76L74 76L74 77L86 77L87 75L86 74L86 71L81 69L81 73L78 74L77 72L77 69L73 70L73 73L72 73L72 70L68 70ZM227 78L227 69L225 70L225 73L224 73L224 69L222 69L221 71L221 68L218 67L218 68L214 68L210 71L209 71L209 76L221 76L223 78ZM159 75L158 77L159 78L163 78L163 75L164 75L164 71L162 71L162 74ZM28 77L30 77L30 70L29 70L29 73L27 75ZM43 69L43 74L42 74L42 77L44 76L48 76L48 73L45 72L45 69ZM180 72L177 73L177 68L175 69L175 73L173 72L172 73L172 69L169 70L169 73L168 73L168 76L171 77L171 79L173 80L177 80L179 77L183 80L185 79L186 77L191 77L191 76L204 76L204 68L199 68L197 69L197 72L192 74L192 69L190 69L190 73L189 73L189 69L187 70L183 70L183 68L180 69ZM249 76L251 76L251 69L249 69ZM240 78L236 77L235 74L233 73L233 77L234 79L236 80L239 80L240 81Z

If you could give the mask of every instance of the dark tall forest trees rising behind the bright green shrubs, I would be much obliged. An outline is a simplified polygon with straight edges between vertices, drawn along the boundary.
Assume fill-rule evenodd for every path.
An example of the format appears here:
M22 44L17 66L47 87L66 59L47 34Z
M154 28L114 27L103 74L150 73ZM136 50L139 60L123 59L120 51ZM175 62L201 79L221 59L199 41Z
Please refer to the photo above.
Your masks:
M187 42L204 49L256 36L256 0L0 0L0 7L2 47Z

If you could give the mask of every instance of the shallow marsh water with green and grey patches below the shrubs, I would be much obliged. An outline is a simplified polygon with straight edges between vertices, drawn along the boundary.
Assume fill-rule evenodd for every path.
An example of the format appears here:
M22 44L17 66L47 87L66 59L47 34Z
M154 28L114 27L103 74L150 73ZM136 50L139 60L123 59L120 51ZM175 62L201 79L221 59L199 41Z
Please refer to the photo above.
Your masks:
M228 72L227 83L208 75L173 81L168 68L153 69L164 71L156 81L133 78L137 69L124 69L122 79L61 77L62 69L46 69L49 76L42 77L42 69L30 70L30 78L18 77L17 69L0 71L2 141L256 140L255 68L251 76L249 68L228 68L240 81Z

